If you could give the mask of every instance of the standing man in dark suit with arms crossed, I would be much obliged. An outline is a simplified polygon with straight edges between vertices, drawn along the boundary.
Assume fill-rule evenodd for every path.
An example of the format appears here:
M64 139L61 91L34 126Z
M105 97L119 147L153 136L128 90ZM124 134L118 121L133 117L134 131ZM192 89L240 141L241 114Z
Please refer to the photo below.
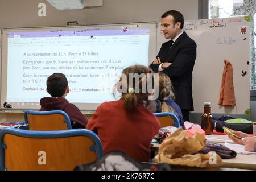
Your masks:
M189 111L193 111L192 71L196 60L196 43L182 32L183 15L170 10L161 17L161 32L166 39L158 56L150 64L154 72L163 72L172 81L175 102L180 106L184 121L189 121Z

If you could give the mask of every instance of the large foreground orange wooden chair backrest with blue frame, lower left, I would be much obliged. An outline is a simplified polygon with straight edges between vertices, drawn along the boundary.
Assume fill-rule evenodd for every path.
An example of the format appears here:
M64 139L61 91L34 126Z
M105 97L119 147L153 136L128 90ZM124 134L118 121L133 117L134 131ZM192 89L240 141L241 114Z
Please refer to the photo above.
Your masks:
M102 155L100 139L90 130L0 132L1 170L73 170Z

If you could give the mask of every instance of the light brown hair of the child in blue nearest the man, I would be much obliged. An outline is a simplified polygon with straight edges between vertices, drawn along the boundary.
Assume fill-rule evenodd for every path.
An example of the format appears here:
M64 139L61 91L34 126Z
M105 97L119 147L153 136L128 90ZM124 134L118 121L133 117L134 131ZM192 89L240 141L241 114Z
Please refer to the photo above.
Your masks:
M171 106L168 106L164 100L171 98L174 100L174 91L170 78L164 74L159 73L159 96L158 100L161 101L161 112L174 113L175 111Z

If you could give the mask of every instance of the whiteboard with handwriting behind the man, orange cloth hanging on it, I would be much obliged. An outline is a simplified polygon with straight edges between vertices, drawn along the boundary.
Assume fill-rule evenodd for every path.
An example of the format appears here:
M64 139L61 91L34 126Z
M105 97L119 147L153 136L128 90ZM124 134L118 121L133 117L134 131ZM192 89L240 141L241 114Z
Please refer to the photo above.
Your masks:
M203 113L204 102L212 102L212 113L243 114L250 109L250 22L247 18L185 21L183 31L197 44L192 82L195 113ZM246 28L246 32L241 32L241 28ZM158 38L159 50L166 42L160 36L160 28ZM235 107L218 105L224 60L230 61L233 67ZM242 76L242 72L246 75Z

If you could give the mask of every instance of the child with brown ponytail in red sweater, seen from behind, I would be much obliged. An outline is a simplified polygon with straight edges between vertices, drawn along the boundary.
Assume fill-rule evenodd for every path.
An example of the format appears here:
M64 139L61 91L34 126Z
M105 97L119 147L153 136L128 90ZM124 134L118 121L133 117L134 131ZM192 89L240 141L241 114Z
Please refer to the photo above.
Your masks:
M104 153L119 150L135 160L149 161L151 140L160 129L158 119L147 109L155 106L154 100L148 100L154 92L150 74L151 69L143 65L125 68L115 85L121 99L104 102L89 119L86 129L98 135Z

